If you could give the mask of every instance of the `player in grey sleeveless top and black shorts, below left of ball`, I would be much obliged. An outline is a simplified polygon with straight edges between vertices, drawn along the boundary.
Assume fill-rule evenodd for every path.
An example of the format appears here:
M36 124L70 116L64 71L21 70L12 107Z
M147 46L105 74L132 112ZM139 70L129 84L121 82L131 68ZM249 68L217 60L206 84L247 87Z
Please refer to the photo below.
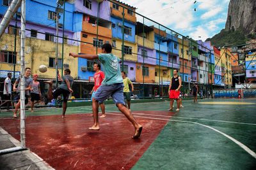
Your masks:
M41 97L41 90L40 90L40 83L37 81L38 75L33 75L33 83L31 85L31 92L30 92L30 101L31 101L31 112L34 112L34 104L40 101ZM36 102L35 102L36 101Z

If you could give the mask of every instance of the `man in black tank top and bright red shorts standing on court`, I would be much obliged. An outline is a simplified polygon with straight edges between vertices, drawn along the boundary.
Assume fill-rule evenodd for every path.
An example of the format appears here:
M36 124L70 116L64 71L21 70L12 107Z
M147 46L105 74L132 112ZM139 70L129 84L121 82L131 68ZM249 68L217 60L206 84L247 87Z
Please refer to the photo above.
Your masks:
M170 110L173 110L173 102L174 99L177 101L177 110L180 110L180 87L181 87L181 78L178 75L178 70L173 69L173 77L172 80L170 81L170 86L169 86L169 98L170 98Z

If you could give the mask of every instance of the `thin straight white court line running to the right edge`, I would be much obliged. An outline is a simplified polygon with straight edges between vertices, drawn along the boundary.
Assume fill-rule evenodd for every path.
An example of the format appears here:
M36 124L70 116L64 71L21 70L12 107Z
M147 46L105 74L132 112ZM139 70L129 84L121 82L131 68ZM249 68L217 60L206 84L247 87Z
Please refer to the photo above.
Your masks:
M115 113L120 113L120 111L110 111ZM250 124L250 123L244 123L244 122L231 122L231 121L225 121L225 120L212 120L212 119L206 119L206 118L189 118L189 117L176 117L176 116L165 116L165 115L154 115L154 114L148 114L148 113L132 113L136 115L148 115L148 116L154 116L154 117L168 117L168 118L184 118L184 119L193 119L193 120L205 120L205 121L211 121L211 122L223 122L223 123L231 123L231 124L243 124L243 125L256 125L256 124Z

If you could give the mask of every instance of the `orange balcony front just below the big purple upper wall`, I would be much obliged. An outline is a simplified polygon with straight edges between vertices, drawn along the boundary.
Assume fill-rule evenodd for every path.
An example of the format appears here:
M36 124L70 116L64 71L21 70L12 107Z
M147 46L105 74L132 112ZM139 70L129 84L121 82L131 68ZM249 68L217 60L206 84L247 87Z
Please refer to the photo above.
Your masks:
M88 32L90 34L97 34L97 25L91 24L89 22L83 22L83 31ZM107 27L102 27L99 25L98 27L98 34L100 36L112 38L112 31Z

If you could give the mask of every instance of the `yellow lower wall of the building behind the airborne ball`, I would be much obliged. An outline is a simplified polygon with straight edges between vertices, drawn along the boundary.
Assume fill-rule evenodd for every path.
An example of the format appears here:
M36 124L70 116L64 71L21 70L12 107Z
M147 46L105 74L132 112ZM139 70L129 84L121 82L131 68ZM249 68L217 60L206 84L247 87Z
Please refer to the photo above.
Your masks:
M6 53L4 58L1 59L0 70L13 71L13 60L9 58L12 57L14 52L14 39L13 34L4 34L1 38L0 47L1 53ZM17 60L15 71L20 71L20 37L17 36ZM31 67L31 74L38 74L39 78L56 78L55 60L56 60L56 43L52 41L46 41L42 39L26 38L25 46L25 66ZM61 74L61 53L62 44L59 44L59 71ZM69 52L79 53L79 46L64 45L64 56L63 56L63 69L70 69L71 75L77 77L77 59L68 56ZM7 61L7 62L6 62ZM47 66L47 72L40 73L38 67L44 64Z

